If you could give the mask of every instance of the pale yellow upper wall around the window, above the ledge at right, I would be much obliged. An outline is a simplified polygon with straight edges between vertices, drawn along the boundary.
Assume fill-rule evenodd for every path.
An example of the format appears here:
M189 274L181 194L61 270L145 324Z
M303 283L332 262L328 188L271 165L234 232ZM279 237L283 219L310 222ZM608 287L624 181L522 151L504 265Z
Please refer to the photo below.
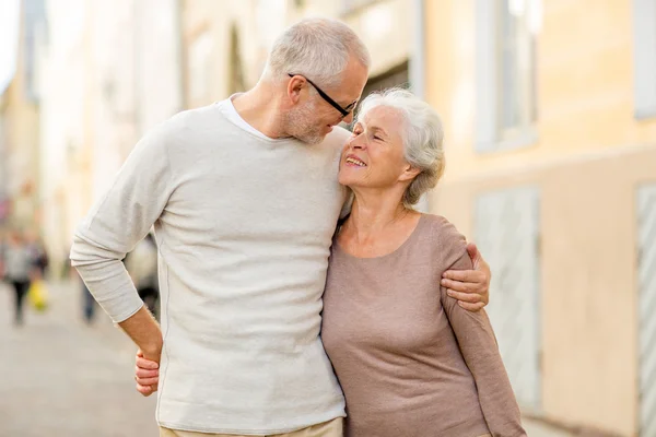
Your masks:
M539 140L515 153L476 154L472 0L426 1L426 95L447 127L447 178L525 166L583 151L654 143L656 118L633 119L630 1L543 3L538 36Z

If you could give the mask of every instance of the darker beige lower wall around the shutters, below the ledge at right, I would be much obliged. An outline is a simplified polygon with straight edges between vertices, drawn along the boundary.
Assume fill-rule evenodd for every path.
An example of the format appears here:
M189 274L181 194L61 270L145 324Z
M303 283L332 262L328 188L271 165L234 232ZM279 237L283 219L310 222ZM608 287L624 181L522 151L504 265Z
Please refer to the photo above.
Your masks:
M542 413L634 435L637 415L635 189L656 181L656 149L609 151L443 184L432 210L473 238L488 190L540 190ZM612 175L612 177L609 177ZM483 253L484 255L484 253ZM494 298L494 291L492 291Z

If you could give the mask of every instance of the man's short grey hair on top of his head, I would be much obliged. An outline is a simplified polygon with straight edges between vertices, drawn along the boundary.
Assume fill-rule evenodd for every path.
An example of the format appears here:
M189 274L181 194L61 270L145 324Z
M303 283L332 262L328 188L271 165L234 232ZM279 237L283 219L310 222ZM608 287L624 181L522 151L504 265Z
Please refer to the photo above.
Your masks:
M351 27L331 19L305 19L276 39L265 71L274 80L303 74L324 86L339 86L351 56L368 69L368 50Z

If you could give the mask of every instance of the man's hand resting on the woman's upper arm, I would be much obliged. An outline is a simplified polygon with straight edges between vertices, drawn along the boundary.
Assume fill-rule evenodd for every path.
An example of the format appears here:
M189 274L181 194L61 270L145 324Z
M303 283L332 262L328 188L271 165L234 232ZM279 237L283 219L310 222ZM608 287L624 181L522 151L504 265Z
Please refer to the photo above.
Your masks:
M441 284L462 308L479 311L490 302L492 273L475 244L467 245L467 252L473 263L473 270L447 270L442 275Z

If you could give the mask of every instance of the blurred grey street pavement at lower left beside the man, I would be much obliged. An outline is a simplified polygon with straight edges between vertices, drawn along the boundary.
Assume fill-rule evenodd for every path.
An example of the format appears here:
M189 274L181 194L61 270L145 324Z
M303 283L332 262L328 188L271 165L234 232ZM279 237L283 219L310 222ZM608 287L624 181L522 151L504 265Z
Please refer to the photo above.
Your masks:
M16 329L0 284L0 436L156 436L155 398L134 390L136 347L102 311L84 323L77 283L49 294Z

